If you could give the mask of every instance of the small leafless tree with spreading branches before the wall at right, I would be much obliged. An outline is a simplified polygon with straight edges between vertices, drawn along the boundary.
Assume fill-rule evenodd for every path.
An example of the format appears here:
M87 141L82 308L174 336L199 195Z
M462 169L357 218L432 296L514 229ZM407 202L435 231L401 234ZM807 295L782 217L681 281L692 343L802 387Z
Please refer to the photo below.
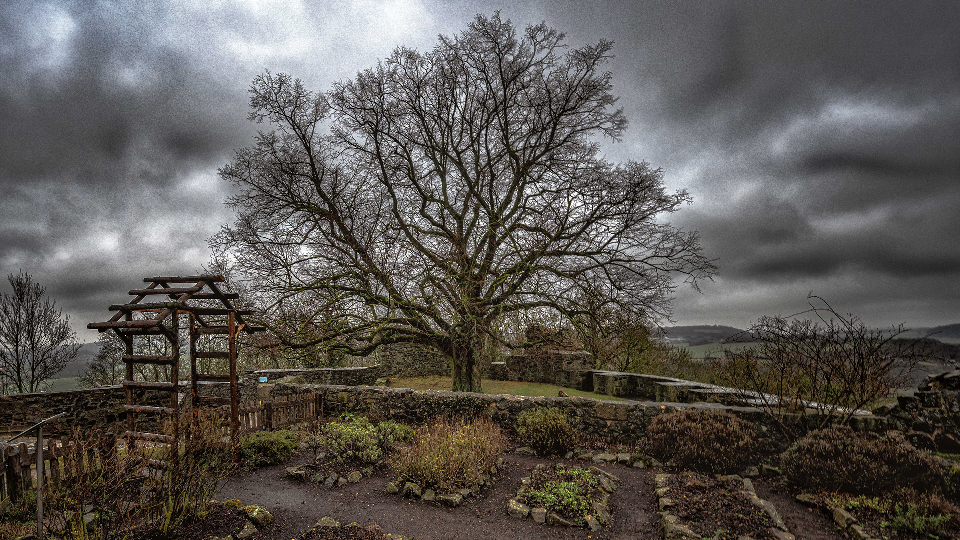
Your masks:
M823 307L811 302L809 310L789 317L761 317L732 336L728 342L754 344L727 351L717 368L719 380L740 389L741 399L762 406L788 433L809 426L791 414L815 414L816 429L849 421L902 387L923 357L922 340L897 339L907 331L903 325L870 329L820 297L809 299ZM809 314L816 319L802 318Z

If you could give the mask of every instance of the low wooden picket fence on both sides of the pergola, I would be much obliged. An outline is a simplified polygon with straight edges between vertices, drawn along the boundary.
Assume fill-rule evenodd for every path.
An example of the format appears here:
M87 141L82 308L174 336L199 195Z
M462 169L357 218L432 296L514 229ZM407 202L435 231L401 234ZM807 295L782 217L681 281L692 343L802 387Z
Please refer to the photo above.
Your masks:
M229 407L224 407L229 418ZM240 405L240 433L276 430L310 420L324 413L323 394L277 397L271 402ZM229 436L229 426L223 428ZM115 459L117 440L113 433L97 431L86 441L67 437L45 438L43 441L44 485L60 485L65 481L85 479L102 466L103 460ZM24 492L35 489L36 451L27 445L0 444L0 503L8 497L17 501ZM2 512L0 512L2 513Z

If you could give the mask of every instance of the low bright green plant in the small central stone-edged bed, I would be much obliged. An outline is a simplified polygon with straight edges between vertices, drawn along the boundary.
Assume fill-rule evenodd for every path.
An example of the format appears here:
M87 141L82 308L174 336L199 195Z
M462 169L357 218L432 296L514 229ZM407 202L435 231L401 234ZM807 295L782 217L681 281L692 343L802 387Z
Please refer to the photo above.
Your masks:
M583 525L584 518L592 513L593 503L601 501L601 493L600 479L593 472L556 465L534 471L523 502L545 507Z

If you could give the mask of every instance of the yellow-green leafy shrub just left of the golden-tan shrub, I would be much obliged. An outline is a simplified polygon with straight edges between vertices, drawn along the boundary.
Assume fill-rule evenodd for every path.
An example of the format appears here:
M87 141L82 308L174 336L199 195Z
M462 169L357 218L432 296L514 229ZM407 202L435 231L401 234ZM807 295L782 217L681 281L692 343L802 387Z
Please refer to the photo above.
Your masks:
M353 416L344 420L324 424L319 429L321 444L338 463L376 463L383 454L393 452L414 435L414 430L393 420L379 424Z

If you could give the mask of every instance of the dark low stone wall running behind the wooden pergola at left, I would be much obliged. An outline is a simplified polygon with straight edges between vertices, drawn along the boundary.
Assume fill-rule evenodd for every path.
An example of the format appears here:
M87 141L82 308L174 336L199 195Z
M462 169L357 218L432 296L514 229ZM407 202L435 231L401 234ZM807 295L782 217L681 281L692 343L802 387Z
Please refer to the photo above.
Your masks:
M227 382L200 383L202 396L224 398L229 397L229 391ZM189 392L189 383L181 383L181 406L189 407L189 400L184 399ZM170 406L170 394L167 392L137 391L134 396L137 405ZM51 424L50 428L44 428L45 431L68 434L75 429L126 430L127 413L124 405L127 405L127 391L119 385L0 396L0 433L15 434L60 412L68 414ZM139 414L137 422L143 430L156 430L157 422L153 415Z

